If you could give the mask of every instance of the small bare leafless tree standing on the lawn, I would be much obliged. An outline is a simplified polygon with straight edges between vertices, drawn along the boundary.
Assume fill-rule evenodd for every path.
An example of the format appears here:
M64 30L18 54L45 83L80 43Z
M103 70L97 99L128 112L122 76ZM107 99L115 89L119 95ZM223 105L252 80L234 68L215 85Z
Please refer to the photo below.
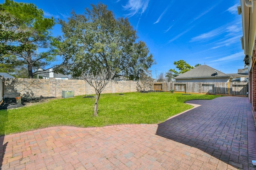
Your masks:
M90 86L95 89L96 98L94 106L94 116L98 114L98 103L100 99L100 93L104 90L106 85L112 80L115 73L108 71L107 69L100 69L97 73L82 73L81 77L86 81Z

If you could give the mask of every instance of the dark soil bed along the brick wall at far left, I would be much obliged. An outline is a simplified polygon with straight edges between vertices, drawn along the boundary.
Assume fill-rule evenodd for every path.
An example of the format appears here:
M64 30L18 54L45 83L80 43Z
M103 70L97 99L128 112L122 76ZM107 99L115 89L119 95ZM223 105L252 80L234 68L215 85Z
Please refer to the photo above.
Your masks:
M48 99L53 99L53 98L55 97L21 98L21 104L16 104L15 98L7 97L3 100L3 103L0 105L0 110L23 107L26 105L31 105L32 103L41 103L41 102L47 101Z

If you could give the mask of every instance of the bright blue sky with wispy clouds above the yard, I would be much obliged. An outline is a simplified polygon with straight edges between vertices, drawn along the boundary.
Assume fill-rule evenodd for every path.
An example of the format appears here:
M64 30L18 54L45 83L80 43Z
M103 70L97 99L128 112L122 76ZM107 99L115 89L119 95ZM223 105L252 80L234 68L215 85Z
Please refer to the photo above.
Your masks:
M0 0L3 3L4 0ZM206 64L224 73L244 68L241 48L240 0L16 0L34 3L45 17L67 20L71 10L83 13L90 4L102 2L115 17L128 17L139 40L146 42L157 64L155 78L175 68L183 59L190 65ZM61 35L60 26L52 30Z

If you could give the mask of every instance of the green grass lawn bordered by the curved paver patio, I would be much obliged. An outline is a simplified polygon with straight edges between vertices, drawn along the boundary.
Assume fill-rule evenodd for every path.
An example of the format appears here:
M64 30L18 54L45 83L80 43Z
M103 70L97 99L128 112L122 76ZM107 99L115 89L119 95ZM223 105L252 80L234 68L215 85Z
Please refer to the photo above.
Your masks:
M151 92L102 94L98 117L94 98L54 99L18 109L0 110L0 136L52 126L101 127L118 124L154 124L191 109L185 101L214 99L215 95Z

